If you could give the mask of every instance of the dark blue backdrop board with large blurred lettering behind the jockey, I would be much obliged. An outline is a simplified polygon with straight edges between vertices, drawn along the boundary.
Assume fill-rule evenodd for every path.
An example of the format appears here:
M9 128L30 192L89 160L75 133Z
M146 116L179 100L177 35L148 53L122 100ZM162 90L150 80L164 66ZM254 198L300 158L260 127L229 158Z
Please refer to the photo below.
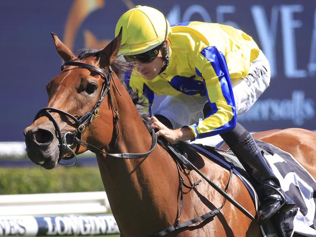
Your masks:
M50 32L73 51L101 48L135 5L159 9L171 24L219 22L252 36L269 59L272 79L239 121L250 131L316 129L314 0L1 0L0 141L23 141L24 128L46 106L45 85L61 65Z

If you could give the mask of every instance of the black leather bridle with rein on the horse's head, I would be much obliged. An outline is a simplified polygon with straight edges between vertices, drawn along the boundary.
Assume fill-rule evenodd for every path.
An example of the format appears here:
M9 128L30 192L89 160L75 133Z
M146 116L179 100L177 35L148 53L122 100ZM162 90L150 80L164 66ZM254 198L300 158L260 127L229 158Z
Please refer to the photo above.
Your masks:
M89 124L92 123L94 117L98 117L99 116L99 107L101 106L102 101L104 100L104 97L106 94L108 94L108 98L110 101L110 105L111 105L111 109L113 112L113 119L114 119L114 130L115 128L117 129L116 132L116 138L113 140L114 143L113 145L116 144L118 135L119 135L119 128L118 128L118 120L120 118L118 111L114 108L113 102L112 102L112 97L111 97L111 92L110 92L110 85L111 85L111 79L112 79L112 69L111 66L109 66L109 70L108 72L105 72L104 70L102 70L101 68L98 68L96 66L93 66L91 64L87 64L87 63L82 63L82 62L64 62L61 65L61 71L64 70L64 68L66 66L76 66L76 67L81 67L81 68L86 68L89 70L92 70L94 72L99 73L102 78L104 79L104 83L102 84L102 90L100 92L100 96L99 96L99 100L96 102L96 104L94 105L93 109L91 109L90 111L88 111L87 113L85 113L81 118L76 118L74 115L61 110L61 109L56 109L53 107L44 107L42 109L40 109L37 112L37 115L34 118L34 121L41 115L46 115L54 124L54 127L56 129L57 132L57 138L59 141L59 157L58 157L58 163L65 165L65 166L72 166L74 164L77 163L77 153L79 151L80 146L85 146L88 147L92 152L95 153L103 153L103 154L107 154L109 156L112 157L118 157L118 158L123 158L123 159L133 159L133 158L142 158L142 157L147 157L155 148L156 143L157 143L157 136L154 132L154 130L152 130L151 132L151 137L152 137L152 142L151 142L151 147L150 150L148 152L145 153L107 153L104 152L103 150L87 143L81 140L82 138L82 133L83 131L89 126ZM114 86L116 88L116 90L119 92L119 94L121 95L120 91L118 90L118 88L115 85L115 81L113 80ZM65 115L66 117L71 118L72 120L74 120L75 125L76 125L76 129L73 132L66 132L65 134L61 134L60 128L57 124L57 121L55 119L55 117L52 115L51 112L56 112L59 115ZM115 115L114 115L115 114ZM73 150L73 148L76 146L75 151ZM66 151L70 151L72 153L71 156L67 156L67 157L63 157ZM61 160L70 160L70 159L75 159L73 164L63 164L61 163Z

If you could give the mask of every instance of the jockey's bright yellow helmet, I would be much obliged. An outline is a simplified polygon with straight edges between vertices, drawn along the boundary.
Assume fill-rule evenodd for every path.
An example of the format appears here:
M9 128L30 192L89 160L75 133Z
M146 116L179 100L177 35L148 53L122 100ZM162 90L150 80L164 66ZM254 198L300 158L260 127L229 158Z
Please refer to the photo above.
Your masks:
M117 21L115 36L122 31L120 53L137 55L165 42L171 27L167 18L155 8L136 6L124 13Z

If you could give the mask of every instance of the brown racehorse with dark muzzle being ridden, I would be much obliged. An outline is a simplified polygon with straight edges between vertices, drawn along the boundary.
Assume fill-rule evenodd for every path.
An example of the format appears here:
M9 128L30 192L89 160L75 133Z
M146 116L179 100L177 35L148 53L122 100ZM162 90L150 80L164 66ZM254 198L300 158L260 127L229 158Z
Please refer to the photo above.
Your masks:
M73 133L79 125L76 118L82 117L88 120L84 121L85 128L80 128L83 134L81 140L103 152L149 151L152 145L150 133L119 79L119 71L124 66L117 58L121 36L117 36L103 50L87 51L79 57L74 56L56 35L53 34L53 37L57 52L65 62L93 65L104 72L80 64L68 64L47 84L47 107L56 109L41 110L33 124L25 128L29 158L46 169L52 169L61 158L72 155L66 145L64 149L61 148L64 146L62 138L67 141L73 139L65 134ZM110 81L105 77L110 77L111 72ZM106 93L102 92L104 85L109 89ZM92 115L85 115L88 111L95 111L93 109L98 105L102 94L104 99L97 108L98 114L94 112ZM94 118L93 121L91 118ZM316 177L313 168L316 150L315 146L309 145L316 141L314 132L303 129L273 130L258 133L256 138L292 153L300 164ZM74 141L69 142L72 143ZM86 151L86 146L77 146L76 153ZM73 146L74 149L75 147ZM145 158L118 159L100 152L96 152L96 157L121 236L148 237L174 224L180 211L179 174L176 163L162 146L157 144ZM225 188L229 171L202 155L189 157L210 180L222 189ZM187 184L201 179L195 171L180 170L180 174ZM180 222L220 207L224 200L223 196L205 181L192 189L184 187L183 191L184 205ZM236 176L233 176L228 194L255 215L254 203ZM247 218L226 201L221 212L214 218L176 230L168 236L260 237L261 233L256 221Z

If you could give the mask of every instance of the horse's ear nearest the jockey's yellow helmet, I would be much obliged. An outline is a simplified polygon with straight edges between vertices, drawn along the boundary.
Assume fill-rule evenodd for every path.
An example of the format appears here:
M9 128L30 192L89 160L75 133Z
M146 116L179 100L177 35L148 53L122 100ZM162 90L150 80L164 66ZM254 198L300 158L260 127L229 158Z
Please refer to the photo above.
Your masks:
M101 51L100 56L100 67L105 68L112 64L115 60L119 48L121 46L121 39L122 39L122 27L120 33Z

